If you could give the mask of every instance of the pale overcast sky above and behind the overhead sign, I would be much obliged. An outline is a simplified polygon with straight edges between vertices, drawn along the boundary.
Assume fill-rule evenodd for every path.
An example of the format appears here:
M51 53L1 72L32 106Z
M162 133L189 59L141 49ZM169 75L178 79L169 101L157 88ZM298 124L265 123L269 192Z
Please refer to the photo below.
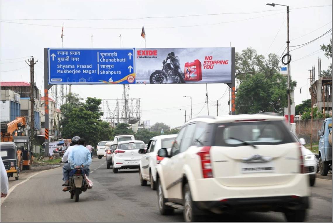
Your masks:
M287 37L286 8L284 6L266 6L267 2L261 0L1 0L1 81L30 82L29 67L24 61L29 59L30 55L33 55L35 60L39 60L35 66L35 81L38 88L43 89L43 48L62 47L60 36L63 22L64 47L67 48L91 47L91 35L93 35L94 48L120 47L120 34L123 41L122 47L144 47L144 41L141 37L141 29L144 25L147 35L146 45L149 48L229 47L231 43L236 52L252 47L257 50L258 54L267 56L269 53L276 53L280 56L285 48ZM280 0L275 3L289 4L290 6L289 35L291 46L311 41L332 28L332 6L297 9L308 6L331 5L331 0ZM163 19L89 20L219 13L231 14ZM12 21L9 21L10 19ZM202 26L193 27L193 25ZM175 26L192 27L170 28ZM96 27L100 29L96 29ZM310 98L308 93L309 80L307 80L309 78L308 70L311 69L311 65L316 66L317 79L318 57L322 59L322 69L327 69L330 61L320 51L320 45L329 43L330 37L331 32L323 38L291 52L291 77L297 81L296 104ZM157 67L156 69L161 68ZM300 94L301 87L302 93ZM60 89L60 87L58 88ZM73 92L80 94L82 98L121 99L122 89L121 85L72 86ZM228 113L228 94L226 91L226 84L208 84L210 115L216 115L214 104L219 99L221 104L219 114ZM226 94L224 94L225 92ZM171 127L180 126L184 123L184 111L179 111L179 109L185 109L186 114L190 113L190 100L182 96L192 96L193 117L206 115L207 106L203 107L205 93L205 84L130 86L130 98L142 99L142 120L150 120L151 123L165 122L170 124Z

